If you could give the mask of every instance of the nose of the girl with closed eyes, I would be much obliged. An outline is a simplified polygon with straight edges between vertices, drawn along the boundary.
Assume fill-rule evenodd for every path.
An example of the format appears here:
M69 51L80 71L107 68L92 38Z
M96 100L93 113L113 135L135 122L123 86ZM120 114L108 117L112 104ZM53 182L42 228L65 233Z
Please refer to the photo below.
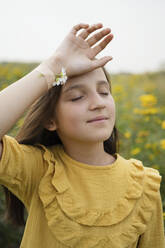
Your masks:
M89 97L89 109L97 109L105 107L105 99L103 95L95 93Z

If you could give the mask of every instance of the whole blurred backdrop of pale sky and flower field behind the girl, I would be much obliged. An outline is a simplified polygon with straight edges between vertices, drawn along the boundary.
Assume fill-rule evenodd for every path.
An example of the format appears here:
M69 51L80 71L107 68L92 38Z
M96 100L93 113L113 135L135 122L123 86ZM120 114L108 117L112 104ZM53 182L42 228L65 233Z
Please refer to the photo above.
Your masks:
M164 10L164 0L3 1L0 90L52 55L74 25L101 22L111 28L114 39L97 58L113 57L105 68L116 102L119 153L159 170L165 212ZM16 135L23 119L8 135ZM0 188L0 247L18 248L24 227L4 222L4 209Z

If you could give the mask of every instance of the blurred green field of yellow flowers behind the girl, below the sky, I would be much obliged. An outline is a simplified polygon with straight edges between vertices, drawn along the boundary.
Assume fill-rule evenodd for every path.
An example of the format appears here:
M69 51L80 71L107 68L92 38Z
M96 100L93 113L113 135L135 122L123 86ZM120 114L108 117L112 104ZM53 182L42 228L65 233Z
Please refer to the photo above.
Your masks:
M37 64L0 64L0 90L36 66ZM159 170L165 212L165 71L112 74L110 80L116 103L119 153L125 158L139 159L144 166ZM16 134L23 118L9 134Z

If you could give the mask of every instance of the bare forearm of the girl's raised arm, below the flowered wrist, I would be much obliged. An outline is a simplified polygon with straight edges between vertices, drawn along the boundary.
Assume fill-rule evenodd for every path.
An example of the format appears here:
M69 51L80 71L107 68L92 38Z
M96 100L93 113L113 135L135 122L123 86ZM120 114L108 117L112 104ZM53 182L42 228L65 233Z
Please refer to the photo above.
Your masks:
M0 139L13 127L26 109L48 91L45 77L40 76L40 72L35 69L0 92ZM56 73L55 67L54 73Z

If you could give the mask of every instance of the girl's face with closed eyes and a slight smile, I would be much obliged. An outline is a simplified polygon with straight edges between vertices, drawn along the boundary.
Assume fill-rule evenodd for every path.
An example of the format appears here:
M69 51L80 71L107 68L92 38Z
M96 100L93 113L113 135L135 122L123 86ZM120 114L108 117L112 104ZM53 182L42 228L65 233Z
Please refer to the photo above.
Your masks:
M89 122L98 116L107 120ZM63 144L98 143L107 140L115 124L115 103L101 68L69 79L56 105L53 121ZM53 129L51 129L53 130Z

